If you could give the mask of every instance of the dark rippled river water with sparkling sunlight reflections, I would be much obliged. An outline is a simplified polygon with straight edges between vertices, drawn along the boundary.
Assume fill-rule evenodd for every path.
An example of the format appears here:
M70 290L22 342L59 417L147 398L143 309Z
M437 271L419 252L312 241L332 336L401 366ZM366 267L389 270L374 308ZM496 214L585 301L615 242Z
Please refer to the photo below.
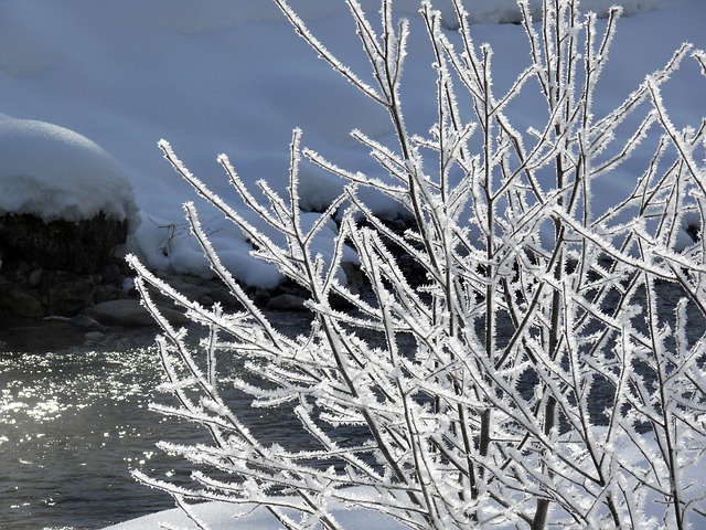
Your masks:
M677 297L665 298L671 312ZM308 327L302 314L270 318L282 331ZM703 319L692 321L700 337ZM162 395L157 332L0 320L0 529L97 529L173 507L130 475L178 478L186 470L173 469L179 460L154 444L202 436L148 411ZM245 402L233 407L248 411L242 418L264 437L292 442L295 430L274 411L264 417Z

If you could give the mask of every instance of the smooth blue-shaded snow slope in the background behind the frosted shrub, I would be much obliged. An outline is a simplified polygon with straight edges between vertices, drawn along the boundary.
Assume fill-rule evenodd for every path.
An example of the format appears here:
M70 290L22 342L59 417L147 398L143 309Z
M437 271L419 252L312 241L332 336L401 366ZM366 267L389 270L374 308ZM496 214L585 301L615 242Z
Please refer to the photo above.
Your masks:
M379 6L377 0L362 3L371 12ZM587 0L584 7L601 12L611 3ZM629 17L620 23L602 80L599 97L603 109L620 103L683 41L706 47L703 0L623 3ZM368 68L343 1L292 0L291 4L314 34L365 76ZM408 125L424 134L434 121L434 99L429 97L434 80L426 33L416 13L418 4L417 0L397 0L396 9L411 19L413 29L405 71ZM499 23L517 19L514 0L471 0L467 6L477 23L477 43L490 42L495 49L495 85L507 86L528 59L522 28ZM452 25L450 1L440 0L438 7ZM696 64L685 64L665 91L676 125L706 115L703 94L704 81ZM384 112L319 61L274 2L266 0L3 2L0 95L0 113L54 124L81 135L74 139L83 136L105 149L109 155L90 163L104 170L111 156L131 182L140 210L141 225L131 250L152 267L179 273L207 269L189 239L181 210L193 192L162 159L157 147L161 138L172 144L200 179L232 197L234 192L215 162L221 152L229 156L246 180L264 178L282 189L292 128L301 127L306 145L342 167L370 173L377 168L349 131L360 128L383 140L392 132ZM532 124L531 106L521 112L526 113L521 125ZM0 181L4 182L0 184L3 209L19 199L30 200L26 195L32 193L45 193L45 187L34 186L43 168L65 163L36 146L17 150L18 141L21 139L9 138L3 129L0 153L17 161L24 152L33 152L34 159L28 160L33 179L20 180L15 178L20 173L10 171L13 168L0 168L0 177L6 178ZM72 163L76 162L73 158ZM614 199L614 189L629 187L634 178L630 169L624 167L622 173L605 182L606 191L598 200ZM634 169L639 171L639 166ZM55 174L63 179L66 173ZM72 178L84 180L83 174ZM310 209L325 204L339 186L312 167L303 168L302 182L302 205ZM56 184L54 191L61 188ZM104 183L84 188L87 193L90 200L82 199L84 209L105 206L106 199L118 201L118 210L132 208L127 187L122 197ZM55 209L60 197L54 193L53 201L40 198L34 203ZM374 206L386 209L383 202ZM236 276L264 286L278 282L272 269L263 264L253 266L248 244L220 215L204 211L202 222L221 250L222 261Z

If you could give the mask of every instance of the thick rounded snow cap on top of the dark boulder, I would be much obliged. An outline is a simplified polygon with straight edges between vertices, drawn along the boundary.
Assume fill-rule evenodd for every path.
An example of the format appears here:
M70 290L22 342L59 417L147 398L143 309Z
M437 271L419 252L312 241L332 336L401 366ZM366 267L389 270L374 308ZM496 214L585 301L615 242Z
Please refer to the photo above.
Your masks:
M139 224L132 186L118 162L77 132L0 117L0 214L81 221L103 212Z

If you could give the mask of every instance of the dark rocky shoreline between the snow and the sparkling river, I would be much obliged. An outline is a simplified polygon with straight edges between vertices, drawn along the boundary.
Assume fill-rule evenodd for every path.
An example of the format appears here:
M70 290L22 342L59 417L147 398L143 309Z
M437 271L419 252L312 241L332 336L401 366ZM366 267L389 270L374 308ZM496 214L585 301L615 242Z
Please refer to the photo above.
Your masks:
M409 226L397 220L389 227L402 233ZM101 216L87 223L38 223L26 215L0 218L0 318L52 318L82 327L156 326L140 304L132 283L135 272L115 255L126 233L126 226L113 227ZM391 251L409 279L424 276L418 264L399 248L393 245ZM351 263L343 266L349 285L356 292L364 289L360 268ZM154 274L204 307L216 303L226 310L239 307L217 278ZM308 293L292 282L271 289L247 286L245 290L264 309L306 310ZM152 295L172 324L188 322L167 296Z

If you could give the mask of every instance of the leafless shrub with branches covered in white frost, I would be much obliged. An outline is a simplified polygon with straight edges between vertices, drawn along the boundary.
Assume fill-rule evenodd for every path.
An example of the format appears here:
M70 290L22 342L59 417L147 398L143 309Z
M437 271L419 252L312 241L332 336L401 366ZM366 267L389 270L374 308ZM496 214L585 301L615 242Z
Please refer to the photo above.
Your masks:
M165 389L178 402L154 409L212 435L211 444L162 444L197 467L193 487L138 478L185 509L190 499L255 504L286 528L340 528L331 507L341 502L418 529L704 524L704 481L689 464L706 448L705 243L698 230L691 244L678 242L684 223L698 227L704 218L706 128L677 129L660 91L683 61L706 72L706 54L684 45L603 114L593 96L619 9L599 32L576 0L545 0L538 24L520 2L532 65L499 94L492 50L473 42L461 1L453 2L453 36L425 2L438 116L419 136L405 125L408 25L395 20L392 1L382 2L379 29L349 1L374 85L276 1L324 61L388 113L395 144L353 132L386 178L302 149L297 130L289 197L260 182L261 200L222 156L274 240L161 145L256 255L308 290L312 324L297 337L276 329L221 266L186 204L195 236L243 310L201 307L131 261L163 328ZM506 109L528 91L538 91L546 121L521 130ZM592 210L597 179L655 131L632 192ZM313 224L301 222L298 208L302 156L349 183ZM413 227L389 230L360 199L370 188L395 200ZM339 236L323 258L312 245L334 216ZM345 245L360 258L363 293L341 279ZM421 277L406 277L399 255ZM197 347L160 316L148 284L207 330ZM350 308L341 310L341 300ZM225 380L224 356L244 359L249 373ZM254 405L290 406L310 444L284 447L246 428L223 398L233 384Z

